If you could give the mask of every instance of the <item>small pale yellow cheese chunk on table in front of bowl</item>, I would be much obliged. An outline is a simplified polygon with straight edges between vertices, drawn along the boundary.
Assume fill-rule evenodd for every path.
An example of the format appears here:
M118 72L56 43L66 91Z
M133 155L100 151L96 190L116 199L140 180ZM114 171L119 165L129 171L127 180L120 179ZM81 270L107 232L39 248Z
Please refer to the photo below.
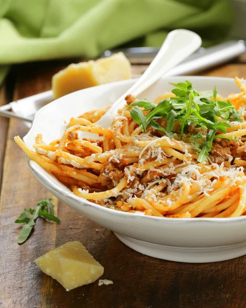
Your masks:
M104 268L81 244L68 242L37 258L35 263L44 273L60 282L66 290L71 290L97 280Z

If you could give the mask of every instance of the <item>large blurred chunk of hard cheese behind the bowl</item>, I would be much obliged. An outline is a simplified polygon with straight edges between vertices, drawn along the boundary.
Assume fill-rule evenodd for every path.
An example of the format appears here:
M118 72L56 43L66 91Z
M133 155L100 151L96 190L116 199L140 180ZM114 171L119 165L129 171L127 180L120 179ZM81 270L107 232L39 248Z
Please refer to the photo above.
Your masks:
M54 99L81 89L131 78L130 62L118 52L96 61L70 64L52 78Z

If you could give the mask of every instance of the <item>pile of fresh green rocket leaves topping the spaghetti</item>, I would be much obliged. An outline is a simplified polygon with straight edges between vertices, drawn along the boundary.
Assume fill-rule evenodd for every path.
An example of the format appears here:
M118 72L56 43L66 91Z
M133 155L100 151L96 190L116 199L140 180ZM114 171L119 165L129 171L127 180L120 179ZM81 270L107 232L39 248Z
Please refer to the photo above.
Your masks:
M242 121L241 113L230 101L217 100L216 86L213 91L199 94L189 81L171 84L176 87L172 91L176 97L164 99L158 104L153 104L148 100L136 100L127 107L127 109L131 108L131 117L139 124L143 132L150 125L154 129L163 131L169 138L172 138L175 132L180 134L180 139L182 139L191 124L195 124L196 128L207 129L209 131L207 136L202 136L198 132L193 136L187 135L194 140L195 149L199 152L199 162L204 162L209 156L215 138L237 141L224 137L222 133L226 133L226 128L231 127L228 121ZM149 112L146 114L144 111ZM166 120L165 127L162 127L162 123L159 122L163 119Z

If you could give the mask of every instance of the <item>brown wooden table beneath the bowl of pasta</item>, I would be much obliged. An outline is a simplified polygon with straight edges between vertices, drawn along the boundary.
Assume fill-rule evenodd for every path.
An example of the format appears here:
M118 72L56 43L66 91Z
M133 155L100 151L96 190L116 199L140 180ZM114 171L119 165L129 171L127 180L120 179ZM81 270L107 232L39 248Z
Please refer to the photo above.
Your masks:
M17 65L0 89L0 104L49 90L52 75L70 61ZM142 73L146 65L135 65ZM201 74L201 73L200 73ZM245 56L203 75L246 77ZM246 256L206 264L175 263L137 253L108 229L78 215L45 189L28 169L26 157L13 137L28 128L0 117L0 307L245 307ZM14 220L24 207L52 197L60 225L38 219L34 233L17 244L20 225ZM98 282L70 292L42 273L34 260L68 241L81 241L105 268Z

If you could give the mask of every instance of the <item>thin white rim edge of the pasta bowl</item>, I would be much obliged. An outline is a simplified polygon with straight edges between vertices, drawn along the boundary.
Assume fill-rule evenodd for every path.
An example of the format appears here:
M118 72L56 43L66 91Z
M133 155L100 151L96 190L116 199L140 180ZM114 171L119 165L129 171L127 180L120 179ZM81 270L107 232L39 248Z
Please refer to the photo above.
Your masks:
M162 76L161 79L167 79L167 78L185 78L185 79L217 79L217 80L224 80L224 81L234 81L233 78L225 78L225 77L218 77L218 76ZM124 81L117 81L117 82L113 82L113 83L109 83L109 84L103 84L103 85L99 85L94 88L101 88L101 87L105 87L105 86L110 86L112 84L127 84L130 82L133 82L135 79L129 79L129 80L124 80ZM137 79L136 79L137 80ZM59 98L57 100L54 100L52 102L50 102L49 104L47 104L46 106L42 107L40 110L38 110L33 118L30 130L27 132L27 134L25 135L25 137L23 137L24 142L26 143L26 139L29 137L29 134L31 134L31 130L33 128L33 126L35 125L36 119L39 116L40 113L42 113L44 110L46 110L47 108L49 108L51 105L56 105L59 104L59 100L64 99L66 97L70 97L72 94L77 93L77 92L81 92L81 91L91 91L91 88L86 88L86 89L82 89L79 91L75 91L72 93L69 93L67 95L64 95L64 97ZM118 211L115 209L111 209L109 207L104 207L102 205L93 203L88 201L87 199L78 197L76 195L73 194L72 191L69 190L65 190L62 187L59 187L58 185L54 185L52 183L52 181L46 177L45 174L41 173L38 168L42 168L39 164L35 163L34 161L30 160L29 157L27 157L28 160L28 165L29 168L32 172L32 174L37 178L37 180L39 180L39 182L42 183L42 185L44 185L48 190L48 187L52 187L51 190L55 191L58 193L58 195L60 196L64 196L65 198L71 198L75 203L77 203L77 207L81 207L81 206L89 206L89 207L93 207L93 209L98 209L99 211L103 211L104 214L108 214L110 216L119 216L121 218L134 218L134 219L141 219L141 220L150 220L150 221L155 221L157 223L179 223L179 224L183 224L183 223L198 223L198 222L206 222L206 223L219 223L219 224L227 224L229 222L231 223L238 223L238 222L244 222L246 221L246 216L240 216L240 217L230 217L230 218L167 218L167 217L157 217L157 216L150 216L150 215L143 215L143 214L138 214L138 213L127 213L124 211ZM43 169L43 168L42 168ZM47 170L43 169L45 172L48 172ZM58 179L56 179L52 174L49 174L51 177L53 177L55 179L55 181L58 181ZM40 180L42 179L42 180ZM58 181L59 182L59 181ZM45 184L44 184L45 183ZM60 183L60 182L59 182ZM71 207L75 207L73 205L67 204ZM76 208L75 208L76 209ZM144 221L143 220L143 221Z

